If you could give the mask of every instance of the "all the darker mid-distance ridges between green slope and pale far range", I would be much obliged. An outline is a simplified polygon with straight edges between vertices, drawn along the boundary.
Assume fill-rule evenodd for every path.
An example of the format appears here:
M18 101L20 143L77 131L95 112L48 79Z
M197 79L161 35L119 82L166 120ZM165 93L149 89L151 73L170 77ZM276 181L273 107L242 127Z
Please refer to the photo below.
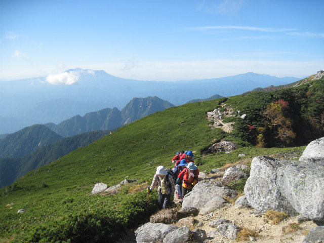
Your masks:
M0 139L0 188L118 127L172 106L157 97L133 98L121 111L106 108L71 117L58 125L33 125L8 134Z

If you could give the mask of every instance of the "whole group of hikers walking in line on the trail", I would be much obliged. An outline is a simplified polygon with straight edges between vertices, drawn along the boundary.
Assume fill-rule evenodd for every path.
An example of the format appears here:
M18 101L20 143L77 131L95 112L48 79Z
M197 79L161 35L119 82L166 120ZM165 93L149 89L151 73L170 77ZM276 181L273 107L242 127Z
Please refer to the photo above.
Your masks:
M184 196L192 190L199 180L199 170L194 164L194 155L191 150L177 152L172 158L172 163L174 164L172 170L163 166L156 168L152 184L147 189L150 192L158 185L158 204L163 209L170 205L171 195L175 194L176 189L176 196L182 203Z

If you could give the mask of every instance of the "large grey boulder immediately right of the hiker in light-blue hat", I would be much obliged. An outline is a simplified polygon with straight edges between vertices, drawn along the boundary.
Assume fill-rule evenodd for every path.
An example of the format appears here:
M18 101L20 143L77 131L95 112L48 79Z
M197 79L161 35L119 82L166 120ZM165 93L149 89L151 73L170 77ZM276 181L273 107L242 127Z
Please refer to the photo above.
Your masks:
M200 210L215 196L234 198L237 196L237 192L227 187L219 187L206 181L200 181L193 187L192 191L185 195L182 208L194 207Z

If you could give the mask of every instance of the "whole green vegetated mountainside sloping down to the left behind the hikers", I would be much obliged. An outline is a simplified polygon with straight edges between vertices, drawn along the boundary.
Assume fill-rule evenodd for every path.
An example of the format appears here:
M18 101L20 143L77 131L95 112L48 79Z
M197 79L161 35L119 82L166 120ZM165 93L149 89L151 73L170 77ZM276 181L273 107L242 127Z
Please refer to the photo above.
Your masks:
M306 84L298 88L296 94L304 95L314 87L322 91L319 84L312 87ZM152 193L151 203L147 206L147 194L143 188L151 182L157 166L171 167L171 158L179 150L194 151L195 164L200 171L233 163L238 160L239 153L247 154L247 158L288 152L300 155L305 147L261 149L247 142L247 126L252 125L251 122L262 124L260 110L281 96L297 102L299 98L293 93L256 92L171 107L29 172L13 185L0 190L0 238L27 242L48 242L50 239L106 242L113 239L117 228L135 227L156 209L156 192ZM322 96L317 97L315 91L314 94L316 100L324 102ZM307 97L302 101L305 111L296 111L300 117L307 112L316 115L323 112L322 103L314 103L311 95ZM206 118L206 112L225 101L249 117L247 120L233 118L236 124L230 134L211 129ZM310 105L313 103L316 106ZM238 149L229 154L203 157L201 150L221 139L237 142ZM126 185L115 195L91 195L95 183L113 186L126 176L138 179L142 191L133 194L136 186ZM27 212L17 214L17 210L22 208Z

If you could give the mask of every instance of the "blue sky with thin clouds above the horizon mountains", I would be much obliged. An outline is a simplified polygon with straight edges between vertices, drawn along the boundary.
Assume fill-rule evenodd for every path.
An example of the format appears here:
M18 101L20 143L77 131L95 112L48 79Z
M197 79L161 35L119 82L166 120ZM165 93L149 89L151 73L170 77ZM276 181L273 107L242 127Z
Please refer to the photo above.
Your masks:
M0 0L0 79L104 70L138 80L324 69L324 1Z

